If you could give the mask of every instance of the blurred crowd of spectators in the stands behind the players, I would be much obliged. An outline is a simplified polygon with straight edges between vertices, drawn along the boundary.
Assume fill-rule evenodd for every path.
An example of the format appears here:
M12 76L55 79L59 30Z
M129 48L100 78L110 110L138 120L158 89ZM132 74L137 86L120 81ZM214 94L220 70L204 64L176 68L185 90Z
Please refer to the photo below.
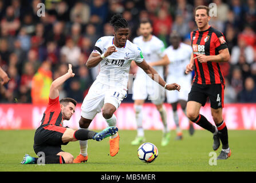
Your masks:
M40 17L41 2L46 11ZM210 25L225 34L231 56L220 65L226 78L225 102L256 102L254 0L0 0L0 66L10 77L0 88L0 102L45 104L50 83L66 73L67 63L76 75L64 83L60 98L82 102L99 73L99 67L87 69L85 62L98 38L113 35L112 15L127 19L131 41L138 35L139 21L150 19L153 34L166 47L173 30L190 44L190 32L197 28L194 8L211 2L218 14ZM131 97L124 102L132 102Z

